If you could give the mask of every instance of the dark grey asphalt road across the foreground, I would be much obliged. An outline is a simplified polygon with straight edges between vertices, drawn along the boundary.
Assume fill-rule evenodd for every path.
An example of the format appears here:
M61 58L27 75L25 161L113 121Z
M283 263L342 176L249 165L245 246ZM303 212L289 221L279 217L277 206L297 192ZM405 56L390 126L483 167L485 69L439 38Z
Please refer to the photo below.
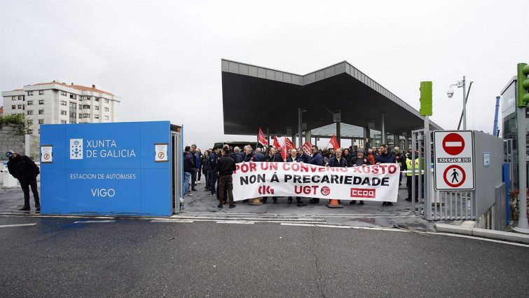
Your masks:
M527 245L397 229L97 221L0 217L1 296L526 297L529 292ZM34 225L6 226L12 224Z

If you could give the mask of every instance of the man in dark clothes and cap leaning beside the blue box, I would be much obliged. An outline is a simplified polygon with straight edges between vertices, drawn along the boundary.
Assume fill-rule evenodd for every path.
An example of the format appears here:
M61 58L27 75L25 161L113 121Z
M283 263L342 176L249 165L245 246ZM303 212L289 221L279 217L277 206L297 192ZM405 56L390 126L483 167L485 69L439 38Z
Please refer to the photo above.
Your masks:
M36 186L36 176L41 172L39 167L25 155L19 155L13 151L7 151L6 157L9 158L7 168L13 177L20 182L20 187L24 192L24 207L19 209L21 211L29 211L29 187L32 187L33 198L35 199L35 208L37 211L41 210L41 201L39 199L39 189Z

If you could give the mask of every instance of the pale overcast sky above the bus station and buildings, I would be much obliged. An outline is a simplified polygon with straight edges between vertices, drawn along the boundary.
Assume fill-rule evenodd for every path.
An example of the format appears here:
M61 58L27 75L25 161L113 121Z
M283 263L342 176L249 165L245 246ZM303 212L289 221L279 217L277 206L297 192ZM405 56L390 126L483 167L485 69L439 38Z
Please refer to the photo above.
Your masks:
M433 81L434 116L491 133L495 97L529 63L529 0L0 1L0 90L57 80L123 98L120 121L184 124L184 140L225 136L221 59L295 74L347 60L415 109ZM256 133L259 128L256 128Z

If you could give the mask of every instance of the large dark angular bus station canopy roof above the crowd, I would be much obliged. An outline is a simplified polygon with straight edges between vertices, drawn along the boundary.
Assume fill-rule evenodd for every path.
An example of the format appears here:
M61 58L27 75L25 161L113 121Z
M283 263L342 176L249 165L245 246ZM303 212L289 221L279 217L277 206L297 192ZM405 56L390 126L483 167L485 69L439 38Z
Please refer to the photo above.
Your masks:
M424 128L419 111L348 62L298 75L265 67L222 60L224 133L257 135L259 128L270 134L298 133L298 108L303 108L306 128L313 130L333 121L341 111L341 122L401 135ZM441 127L430 121L430 130Z

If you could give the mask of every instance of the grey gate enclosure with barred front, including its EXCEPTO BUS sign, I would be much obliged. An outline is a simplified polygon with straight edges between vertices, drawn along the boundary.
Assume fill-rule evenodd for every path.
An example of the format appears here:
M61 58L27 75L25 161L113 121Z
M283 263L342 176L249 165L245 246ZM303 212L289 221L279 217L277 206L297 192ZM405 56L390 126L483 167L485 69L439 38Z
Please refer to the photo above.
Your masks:
M428 220L476 220L481 228L502 230L509 203L502 177L503 140L476 130L412 133L411 158L419 158L412 172L423 173L413 210ZM412 184L415 196L415 180Z

